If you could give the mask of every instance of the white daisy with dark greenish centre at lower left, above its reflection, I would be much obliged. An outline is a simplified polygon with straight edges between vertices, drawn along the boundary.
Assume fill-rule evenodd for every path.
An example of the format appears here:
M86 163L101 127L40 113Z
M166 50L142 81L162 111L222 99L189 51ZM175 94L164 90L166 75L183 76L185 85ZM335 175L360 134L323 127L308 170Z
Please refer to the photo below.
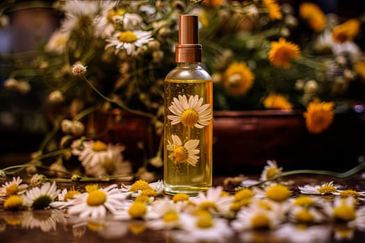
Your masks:
M47 182L41 187L33 187L31 190L27 190L22 194L24 206L28 206L34 209L43 209L49 206L49 203L54 201L60 192L57 189L56 183L52 184Z

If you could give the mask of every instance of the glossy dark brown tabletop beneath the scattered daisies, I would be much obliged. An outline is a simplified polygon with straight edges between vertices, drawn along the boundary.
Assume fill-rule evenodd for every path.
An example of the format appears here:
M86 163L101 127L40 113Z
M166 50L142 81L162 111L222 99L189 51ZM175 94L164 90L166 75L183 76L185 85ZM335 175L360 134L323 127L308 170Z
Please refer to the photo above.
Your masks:
M257 178L257 176L251 176ZM216 176L214 185L223 185L225 177ZM330 176L290 176L282 178L293 183L293 194L298 194L298 185L308 183L323 183L334 181L343 186L365 191L365 179L359 174L346 179L331 178ZM70 184L59 184L60 187L69 187ZM232 188L226 188L230 191ZM77 226L78 225L78 226ZM268 237L266 231L254 232L259 242L277 242ZM245 233L247 234L247 233ZM336 242L364 242L365 232L356 231L352 240ZM65 218L59 210L33 210L0 212L0 242L172 242L169 233L164 231L152 231L145 228L145 221L80 221L72 222ZM235 233L229 242L247 242L241 239L240 233ZM329 242L335 242L332 239Z

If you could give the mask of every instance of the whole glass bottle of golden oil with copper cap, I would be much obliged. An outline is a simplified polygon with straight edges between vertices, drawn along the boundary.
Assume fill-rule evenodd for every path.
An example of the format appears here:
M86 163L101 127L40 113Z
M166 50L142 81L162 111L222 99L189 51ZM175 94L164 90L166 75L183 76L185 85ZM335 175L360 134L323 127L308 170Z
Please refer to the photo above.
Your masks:
M179 16L177 67L165 78L164 188L197 194L212 185L213 85L201 66L197 15Z

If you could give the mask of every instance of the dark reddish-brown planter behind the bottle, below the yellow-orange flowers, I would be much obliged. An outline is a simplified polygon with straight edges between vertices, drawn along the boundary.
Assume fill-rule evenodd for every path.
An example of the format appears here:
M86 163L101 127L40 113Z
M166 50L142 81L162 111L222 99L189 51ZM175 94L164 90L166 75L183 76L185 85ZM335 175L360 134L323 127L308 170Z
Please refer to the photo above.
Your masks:
M267 160L284 170L348 169L365 153L364 110L337 114L320 134L307 131L301 110L215 111L213 174L257 174ZM158 148L159 135L146 117L122 111L95 121L99 132L108 127L104 140L126 146L124 157L136 168Z

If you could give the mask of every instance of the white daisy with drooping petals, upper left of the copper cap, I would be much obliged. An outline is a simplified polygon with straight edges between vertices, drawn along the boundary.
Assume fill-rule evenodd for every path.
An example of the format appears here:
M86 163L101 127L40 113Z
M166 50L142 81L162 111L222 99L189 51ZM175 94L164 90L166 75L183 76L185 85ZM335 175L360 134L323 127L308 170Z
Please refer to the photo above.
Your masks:
M151 31L117 31L106 39L108 44L106 44L105 49L115 47L115 53L122 49L126 50L128 55L132 55L136 47L142 47L143 44L147 44L151 40L154 40Z

